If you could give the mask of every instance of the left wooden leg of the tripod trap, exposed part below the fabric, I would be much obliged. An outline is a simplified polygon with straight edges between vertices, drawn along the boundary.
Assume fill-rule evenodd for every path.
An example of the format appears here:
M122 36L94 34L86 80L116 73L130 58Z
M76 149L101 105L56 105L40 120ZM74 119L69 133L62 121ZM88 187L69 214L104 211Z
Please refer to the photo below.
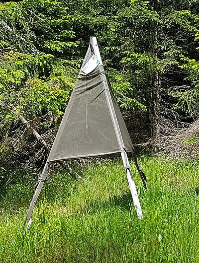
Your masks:
M36 201L39 197L39 194L41 193L43 184L46 181L49 166L50 166L50 163L45 164L44 169L43 169L42 174L41 174L41 177L38 179L37 184L35 186L34 196L32 197L32 201L30 203L27 215L25 217L26 230L29 228L29 226L31 224L31 214L32 214L32 211L35 207L35 204L36 204Z

